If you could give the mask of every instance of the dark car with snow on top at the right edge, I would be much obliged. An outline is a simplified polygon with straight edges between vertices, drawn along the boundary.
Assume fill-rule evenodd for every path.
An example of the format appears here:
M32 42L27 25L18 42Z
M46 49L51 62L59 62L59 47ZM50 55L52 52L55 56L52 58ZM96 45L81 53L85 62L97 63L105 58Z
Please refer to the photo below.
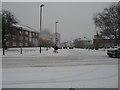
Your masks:
M120 58L120 47L114 47L107 51L107 55L110 57Z

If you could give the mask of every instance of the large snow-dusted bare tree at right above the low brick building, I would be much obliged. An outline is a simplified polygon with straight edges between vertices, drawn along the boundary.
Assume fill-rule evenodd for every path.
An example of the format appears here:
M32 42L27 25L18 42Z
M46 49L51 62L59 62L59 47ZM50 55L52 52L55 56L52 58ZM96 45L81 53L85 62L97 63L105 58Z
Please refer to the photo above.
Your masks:
M101 38L120 40L120 4L114 4L105 8L103 12L93 17Z

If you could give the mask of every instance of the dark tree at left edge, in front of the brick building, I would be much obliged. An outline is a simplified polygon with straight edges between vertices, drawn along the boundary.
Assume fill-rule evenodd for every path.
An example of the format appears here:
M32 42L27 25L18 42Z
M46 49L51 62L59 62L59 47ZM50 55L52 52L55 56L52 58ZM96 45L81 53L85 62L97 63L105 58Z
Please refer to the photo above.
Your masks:
M6 41L9 38L10 33L12 32L13 24L17 24L18 20L15 18L15 16L6 10L2 11L2 47L3 47L3 55L4 55L4 49L7 48ZM15 33L15 32L14 32Z

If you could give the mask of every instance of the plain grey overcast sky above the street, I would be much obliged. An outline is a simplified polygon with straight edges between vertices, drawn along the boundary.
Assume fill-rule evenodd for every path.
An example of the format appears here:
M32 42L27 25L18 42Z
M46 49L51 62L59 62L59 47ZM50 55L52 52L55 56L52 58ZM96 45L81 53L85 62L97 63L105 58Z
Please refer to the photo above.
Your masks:
M55 22L59 21L58 32L62 41L75 38L92 39L95 34L93 16L102 12L113 2L3 2L2 9L12 12L21 24L39 31L39 6L43 7L42 28L55 30Z

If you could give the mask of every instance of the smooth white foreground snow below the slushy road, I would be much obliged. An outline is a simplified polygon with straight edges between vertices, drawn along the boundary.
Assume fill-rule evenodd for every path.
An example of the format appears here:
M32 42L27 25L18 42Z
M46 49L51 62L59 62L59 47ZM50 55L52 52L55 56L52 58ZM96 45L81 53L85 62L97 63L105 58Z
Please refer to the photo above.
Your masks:
M117 88L116 65L10 68L3 88Z

